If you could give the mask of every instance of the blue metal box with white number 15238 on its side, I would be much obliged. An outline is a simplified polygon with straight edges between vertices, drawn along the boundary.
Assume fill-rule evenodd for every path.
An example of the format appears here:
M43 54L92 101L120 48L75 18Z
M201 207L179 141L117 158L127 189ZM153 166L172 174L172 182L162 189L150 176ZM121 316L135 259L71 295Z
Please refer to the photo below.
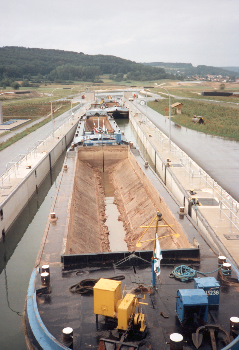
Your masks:
M220 285L214 277L194 278L194 288L203 288L207 294L208 305L219 305Z

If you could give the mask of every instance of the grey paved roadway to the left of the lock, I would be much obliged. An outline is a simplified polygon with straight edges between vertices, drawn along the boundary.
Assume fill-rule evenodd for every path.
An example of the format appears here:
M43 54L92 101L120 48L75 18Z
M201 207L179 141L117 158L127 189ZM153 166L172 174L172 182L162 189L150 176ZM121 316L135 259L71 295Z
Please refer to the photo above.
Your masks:
M75 111L79 107L80 107L80 104L75 106L73 110ZM64 123L64 120L70 117L71 117L71 109L69 109L68 111L66 111L65 113L61 114L59 117L53 120L54 127L61 126ZM26 125L26 128L28 126L29 125ZM26 154L27 148L29 146L33 145L35 141L44 140L47 136L47 133L51 133L51 132L52 132L52 121L41 126L39 129L33 131L32 133L26 135L24 138L16 141L14 144L0 151L0 160L1 160L0 175L6 172L6 164L8 162L10 162L13 158L18 156L19 154ZM12 136L11 133L8 135L9 137ZM1 137L0 137L0 142L2 142Z

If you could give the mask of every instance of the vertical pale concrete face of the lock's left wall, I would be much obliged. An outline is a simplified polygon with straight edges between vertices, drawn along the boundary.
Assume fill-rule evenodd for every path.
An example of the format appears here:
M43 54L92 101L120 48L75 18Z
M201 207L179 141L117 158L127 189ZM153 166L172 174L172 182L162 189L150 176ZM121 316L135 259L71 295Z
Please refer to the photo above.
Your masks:
M65 151L67 145L71 142L77 124L73 125L65 135L62 135L57 144L46 153L35 167L29 169L28 175L1 203L0 209L2 210L3 219L0 221L0 232L4 230L6 234L15 219L20 215L37 188L44 181L51 167L53 167L60 155Z

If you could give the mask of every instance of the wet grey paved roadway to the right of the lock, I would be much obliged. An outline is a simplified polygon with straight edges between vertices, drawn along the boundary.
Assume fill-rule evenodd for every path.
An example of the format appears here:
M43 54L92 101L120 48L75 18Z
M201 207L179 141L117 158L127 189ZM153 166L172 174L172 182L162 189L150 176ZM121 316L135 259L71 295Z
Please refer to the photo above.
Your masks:
M140 99L137 107L146 115L146 104L141 106ZM136 100L133 104L136 106ZM149 107L147 114L148 119L168 137L169 119ZM177 126L172 121L171 140L239 202L239 140L204 134Z

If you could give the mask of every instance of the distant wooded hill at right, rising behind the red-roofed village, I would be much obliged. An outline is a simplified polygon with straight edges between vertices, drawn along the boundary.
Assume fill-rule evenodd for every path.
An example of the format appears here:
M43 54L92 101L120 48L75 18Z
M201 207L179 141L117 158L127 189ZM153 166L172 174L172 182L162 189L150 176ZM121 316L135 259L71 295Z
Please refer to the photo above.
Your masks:
M198 65L197 67L194 67L192 63L166 63L166 62L150 62L150 63L143 63L145 65L150 65L153 67L160 67L164 68L166 73L178 73L180 75L190 75L193 76L197 74L200 75L221 75L221 76L239 76L238 70L235 69L229 69L229 67L213 67L213 66L206 66L206 65ZM233 68L233 67L231 67ZM237 68L237 67L235 67Z

